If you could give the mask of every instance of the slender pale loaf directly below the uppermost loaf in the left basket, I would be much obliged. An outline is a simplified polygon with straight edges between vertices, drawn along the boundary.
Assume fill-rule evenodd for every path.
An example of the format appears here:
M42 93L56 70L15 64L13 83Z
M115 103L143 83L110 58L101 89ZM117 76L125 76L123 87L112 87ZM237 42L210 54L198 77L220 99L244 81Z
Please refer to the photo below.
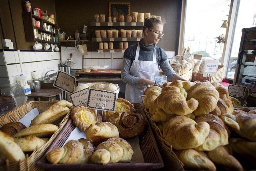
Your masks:
M26 137L30 135L38 136L38 137L49 137L54 134L58 130L58 126L54 124L40 124L30 126L20 132L14 134L12 137Z

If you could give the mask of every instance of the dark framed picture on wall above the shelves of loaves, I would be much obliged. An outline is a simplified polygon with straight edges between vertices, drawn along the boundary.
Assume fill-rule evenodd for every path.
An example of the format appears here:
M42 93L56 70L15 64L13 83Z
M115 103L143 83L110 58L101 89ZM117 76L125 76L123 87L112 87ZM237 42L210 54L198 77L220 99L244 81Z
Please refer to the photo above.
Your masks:
M130 15L130 2L109 2L109 17Z

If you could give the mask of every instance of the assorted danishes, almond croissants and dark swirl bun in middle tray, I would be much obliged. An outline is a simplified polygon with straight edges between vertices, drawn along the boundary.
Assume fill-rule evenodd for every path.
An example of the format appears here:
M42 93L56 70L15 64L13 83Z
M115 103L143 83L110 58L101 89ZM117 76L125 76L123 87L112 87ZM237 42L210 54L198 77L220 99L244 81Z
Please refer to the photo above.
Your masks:
M70 140L64 147L52 149L46 159L56 163L108 163L127 162L134 151L125 138L138 136L146 129L146 118L136 113L133 104L123 98L116 100L114 112L76 106L70 116L74 126L84 132L86 139Z

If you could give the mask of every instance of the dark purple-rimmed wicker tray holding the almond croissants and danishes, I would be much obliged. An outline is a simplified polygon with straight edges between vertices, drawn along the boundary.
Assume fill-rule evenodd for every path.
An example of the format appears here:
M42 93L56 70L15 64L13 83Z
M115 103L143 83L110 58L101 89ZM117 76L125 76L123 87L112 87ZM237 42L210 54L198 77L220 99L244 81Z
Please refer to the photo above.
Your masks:
M136 103L134 105L136 112L143 112L143 107L141 104ZM144 113L143 113L144 114ZM145 115L144 115L145 116ZM146 117L146 116L145 116ZM62 147L64 142L70 135L70 133L74 130L75 126L72 124L72 120L68 120L68 123L58 136L56 140L49 147L48 151ZM64 171L64 170L72 170L76 171L130 171L130 170L153 170L160 169L164 167L164 162L162 160L161 154L158 150L156 140L154 139L154 135L151 127L144 132L144 134L139 136L140 149L142 151L142 155L144 158L144 163L108 163L107 165L94 164L94 163L82 163L82 164L51 164L46 160L46 154L38 161L38 167L41 167L45 170L53 170L53 171ZM47 152L46 152L47 153Z

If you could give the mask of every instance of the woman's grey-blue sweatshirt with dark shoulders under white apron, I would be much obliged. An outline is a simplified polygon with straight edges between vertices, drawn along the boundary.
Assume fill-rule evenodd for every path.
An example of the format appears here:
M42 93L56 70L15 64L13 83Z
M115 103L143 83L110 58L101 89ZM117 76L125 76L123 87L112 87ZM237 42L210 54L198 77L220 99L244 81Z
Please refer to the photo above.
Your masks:
M154 48L156 49L156 61L158 63L158 67L162 69L164 74L167 76L168 81L172 79L172 76L175 75L175 71L172 69L168 62L168 57L161 47L157 47L156 44L152 44L146 46L142 43L142 39L139 41L140 43L140 54L139 61L153 61L153 53ZM130 45L124 51L124 59L123 59L123 67L121 72L121 79L126 84L131 84L134 86L138 86L139 78L131 75L130 68L132 66L132 62L135 59L136 49L138 44Z

